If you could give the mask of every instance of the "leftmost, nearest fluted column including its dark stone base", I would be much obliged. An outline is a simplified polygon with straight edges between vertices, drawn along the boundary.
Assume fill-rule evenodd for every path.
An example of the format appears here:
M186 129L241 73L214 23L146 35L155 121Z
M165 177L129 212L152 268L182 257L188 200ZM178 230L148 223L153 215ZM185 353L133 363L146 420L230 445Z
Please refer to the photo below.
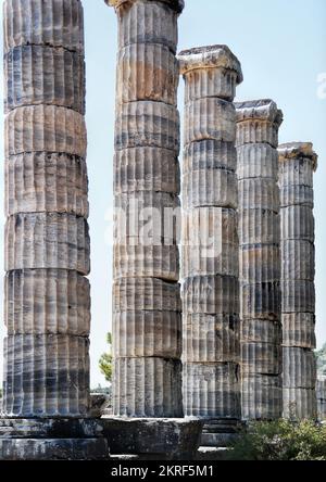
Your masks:
M3 7L3 416L36 420L9 423L12 436L24 431L33 442L5 441L0 430L0 458L93 458L105 444L84 440L79 420L88 415L90 327L83 7ZM77 420L64 428L66 419ZM63 432L71 436L52 441Z

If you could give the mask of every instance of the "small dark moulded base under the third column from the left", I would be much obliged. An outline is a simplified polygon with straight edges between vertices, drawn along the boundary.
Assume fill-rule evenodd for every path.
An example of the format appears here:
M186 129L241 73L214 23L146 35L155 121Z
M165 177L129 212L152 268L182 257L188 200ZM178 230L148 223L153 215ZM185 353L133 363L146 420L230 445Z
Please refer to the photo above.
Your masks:
M242 423L239 420L209 420L204 422L201 446L228 447L238 436Z

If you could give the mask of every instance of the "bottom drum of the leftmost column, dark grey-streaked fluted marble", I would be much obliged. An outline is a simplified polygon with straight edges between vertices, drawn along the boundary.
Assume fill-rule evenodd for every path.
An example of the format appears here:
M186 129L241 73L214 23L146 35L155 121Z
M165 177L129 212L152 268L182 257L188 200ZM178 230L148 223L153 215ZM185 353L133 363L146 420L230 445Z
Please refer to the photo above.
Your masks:
M4 340L4 414L23 418L86 416L88 348L85 337L8 337Z

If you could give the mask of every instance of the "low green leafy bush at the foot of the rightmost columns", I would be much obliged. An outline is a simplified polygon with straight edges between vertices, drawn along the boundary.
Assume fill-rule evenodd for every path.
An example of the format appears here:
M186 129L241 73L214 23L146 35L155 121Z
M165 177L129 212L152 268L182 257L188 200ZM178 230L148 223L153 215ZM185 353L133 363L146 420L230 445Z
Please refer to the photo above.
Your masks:
M309 420L251 422L233 448L231 460L326 460L326 426Z

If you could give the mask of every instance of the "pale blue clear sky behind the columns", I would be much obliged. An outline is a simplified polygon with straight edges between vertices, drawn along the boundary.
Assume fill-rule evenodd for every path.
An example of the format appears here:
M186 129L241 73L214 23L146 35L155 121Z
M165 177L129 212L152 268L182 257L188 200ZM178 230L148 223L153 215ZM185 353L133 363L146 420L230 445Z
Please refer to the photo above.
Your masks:
M112 205L116 16L103 0L83 0L87 66L88 175L91 236L91 386L105 385L98 360L111 329ZM0 24L2 12L0 13ZM311 141L319 154L315 175L317 343L326 342L326 1L186 0L179 50L225 43L239 58L244 81L237 100L271 98L284 111L279 142ZM2 45L2 33L0 33ZM0 72L0 101L3 100ZM184 86L179 110L183 118ZM0 115L0 129L3 116ZM0 152L3 140L0 136ZM3 162L3 154L1 156ZM3 168L0 199L3 199ZM2 213L1 213L2 214ZM0 252L3 252L0 221ZM0 256L0 271L3 261ZM2 277L0 277L1 279ZM0 293L3 283L0 281ZM2 296L0 296L0 314ZM0 339L4 335L0 315ZM2 348L2 340L0 342ZM0 348L0 379L2 350Z

